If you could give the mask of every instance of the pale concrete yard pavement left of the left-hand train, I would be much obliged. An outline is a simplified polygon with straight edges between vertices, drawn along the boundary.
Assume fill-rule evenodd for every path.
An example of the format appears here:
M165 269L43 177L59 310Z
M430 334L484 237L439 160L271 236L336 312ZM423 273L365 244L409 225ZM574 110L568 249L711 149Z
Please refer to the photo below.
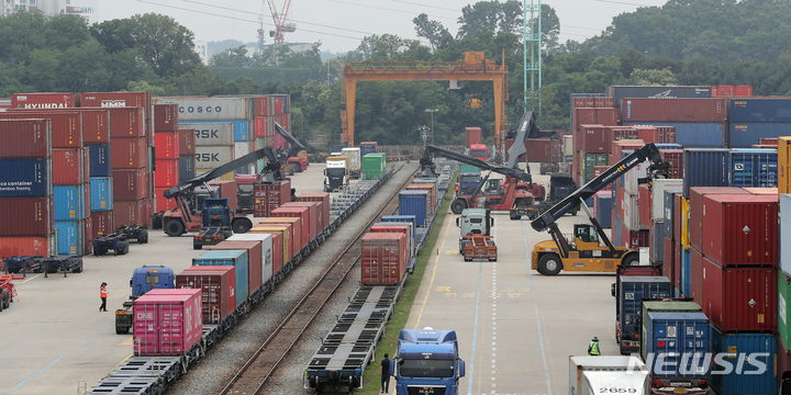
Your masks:
M291 177L297 193L322 192L324 165ZM254 223L257 223L254 221ZM0 314L0 394L74 394L90 388L132 354L131 335L115 334L115 309L130 295L134 268L169 267L175 273L202 251L192 238L151 230L130 253L85 257L82 273L29 274L14 281L19 296ZM108 283L108 312L99 312L99 285Z

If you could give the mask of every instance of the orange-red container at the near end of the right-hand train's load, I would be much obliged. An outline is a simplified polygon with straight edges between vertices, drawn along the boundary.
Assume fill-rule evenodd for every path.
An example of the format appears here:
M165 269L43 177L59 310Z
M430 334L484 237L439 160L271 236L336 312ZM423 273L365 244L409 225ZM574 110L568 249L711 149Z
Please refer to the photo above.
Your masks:
M401 233L369 233L363 236L360 272L363 285L397 285L406 272L409 241Z

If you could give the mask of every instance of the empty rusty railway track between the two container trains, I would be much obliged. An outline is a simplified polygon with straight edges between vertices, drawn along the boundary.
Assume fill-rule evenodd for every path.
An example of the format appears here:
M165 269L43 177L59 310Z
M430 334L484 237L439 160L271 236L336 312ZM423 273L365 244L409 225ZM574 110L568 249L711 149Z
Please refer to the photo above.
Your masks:
M400 167L396 171L400 171ZM402 190L411 180L406 178L397 189ZM299 301L297 306L286 316L280 325L275 328L271 335L258 347L253 357L231 379L220 394L258 394L267 380L278 369L280 362L286 358L301 336L310 327L327 301L334 295L337 289L359 260L359 250L355 248L359 239L367 233L367 229L376 223L382 213L394 212L398 208L398 192L382 205L374 217L361 226L352 241L344 248L337 258L332 261L316 283Z

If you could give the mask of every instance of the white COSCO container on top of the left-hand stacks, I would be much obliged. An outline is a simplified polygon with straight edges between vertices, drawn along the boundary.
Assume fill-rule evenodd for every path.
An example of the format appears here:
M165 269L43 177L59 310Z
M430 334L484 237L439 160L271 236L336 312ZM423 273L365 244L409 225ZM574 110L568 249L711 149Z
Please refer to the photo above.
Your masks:
M178 104L179 121L224 121L252 117L246 98L154 98L155 104Z

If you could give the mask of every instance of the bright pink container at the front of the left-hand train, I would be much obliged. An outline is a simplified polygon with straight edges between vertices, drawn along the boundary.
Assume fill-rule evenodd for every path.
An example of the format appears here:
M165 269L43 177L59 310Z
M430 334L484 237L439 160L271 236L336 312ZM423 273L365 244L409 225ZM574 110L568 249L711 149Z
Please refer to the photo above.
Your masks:
M203 337L201 290L153 291L132 306L135 356L187 354Z

